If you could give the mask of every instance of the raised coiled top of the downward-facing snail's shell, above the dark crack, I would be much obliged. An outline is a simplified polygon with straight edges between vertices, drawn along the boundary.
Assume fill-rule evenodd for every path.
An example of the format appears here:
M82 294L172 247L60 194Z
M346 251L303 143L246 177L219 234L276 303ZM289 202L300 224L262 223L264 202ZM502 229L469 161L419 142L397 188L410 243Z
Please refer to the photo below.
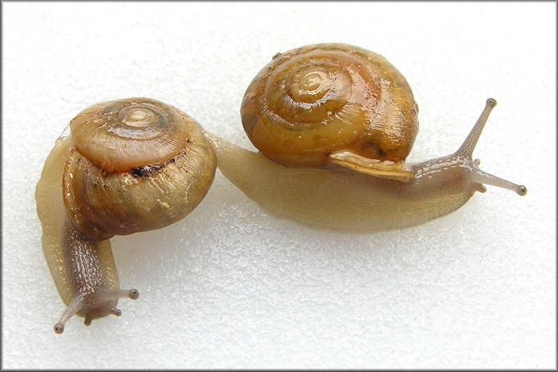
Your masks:
M174 107L147 98L88 107L70 121L70 132L78 151L107 172L165 163L189 137Z

